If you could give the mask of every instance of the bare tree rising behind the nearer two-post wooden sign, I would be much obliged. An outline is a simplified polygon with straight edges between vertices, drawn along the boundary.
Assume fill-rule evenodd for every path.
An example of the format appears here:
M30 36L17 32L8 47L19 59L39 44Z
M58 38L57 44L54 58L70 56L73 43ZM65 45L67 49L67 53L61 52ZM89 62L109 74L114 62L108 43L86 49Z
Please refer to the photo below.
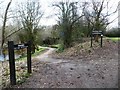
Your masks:
M19 20L23 30L18 36L21 42L27 42L29 40L33 42L32 51L34 53L37 45L38 26L43 12L41 11L39 2L28 1L23 5L21 4L20 7L18 10L20 16Z

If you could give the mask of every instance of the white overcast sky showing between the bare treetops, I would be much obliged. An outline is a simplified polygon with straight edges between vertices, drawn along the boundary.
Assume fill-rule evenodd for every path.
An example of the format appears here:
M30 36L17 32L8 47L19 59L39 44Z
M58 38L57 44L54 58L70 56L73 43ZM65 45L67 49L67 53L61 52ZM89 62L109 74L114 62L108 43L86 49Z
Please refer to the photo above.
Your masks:
M4 3L9 2L9 0L0 0L0 2L1 1L4 1ZM15 7L15 5L17 3L25 2L25 1L28 1L28 0L12 0L11 7ZM52 5L53 2L66 1L66 0L33 0L33 1L41 2L42 10L44 11L44 16L41 19L40 24L41 25L54 25L54 24L57 23L56 22L57 18L54 17L55 10L53 9L53 7L51 7L51 5ZM69 1L80 1L80 0L69 0ZM84 2L84 1L87 1L87 0L81 0L81 1ZM111 11L116 9L119 1L120 0L110 0L110 3L109 3L110 5L109 6L112 6ZM118 16L118 13L112 15L110 17L110 20L113 20L117 16ZM116 21L114 23L112 23L109 27L111 28L111 27L115 27L115 26L118 26L118 19L116 19Z

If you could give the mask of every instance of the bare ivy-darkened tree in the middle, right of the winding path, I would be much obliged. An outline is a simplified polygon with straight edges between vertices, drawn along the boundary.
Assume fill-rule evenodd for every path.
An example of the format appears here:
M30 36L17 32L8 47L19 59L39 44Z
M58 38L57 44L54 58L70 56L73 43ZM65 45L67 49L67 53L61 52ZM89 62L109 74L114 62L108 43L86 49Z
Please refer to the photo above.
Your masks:
M59 2L53 6L59 9L59 25L61 26L61 38L65 48L71 46L72 43L72 30L75 22L78 21L83 15L77 15L77 2Z

